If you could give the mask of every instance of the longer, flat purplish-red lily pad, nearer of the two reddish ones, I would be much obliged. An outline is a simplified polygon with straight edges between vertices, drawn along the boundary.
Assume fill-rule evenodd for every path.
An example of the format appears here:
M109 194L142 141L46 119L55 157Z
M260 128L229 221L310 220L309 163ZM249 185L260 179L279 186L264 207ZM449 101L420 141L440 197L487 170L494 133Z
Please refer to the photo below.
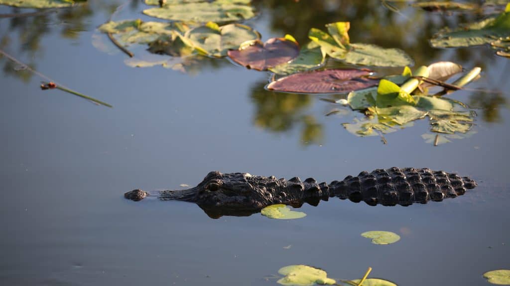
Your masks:
M295 73L267 85L268 90L291 93L349 93L374 87L377 79L368 78L368 69L332 69Z

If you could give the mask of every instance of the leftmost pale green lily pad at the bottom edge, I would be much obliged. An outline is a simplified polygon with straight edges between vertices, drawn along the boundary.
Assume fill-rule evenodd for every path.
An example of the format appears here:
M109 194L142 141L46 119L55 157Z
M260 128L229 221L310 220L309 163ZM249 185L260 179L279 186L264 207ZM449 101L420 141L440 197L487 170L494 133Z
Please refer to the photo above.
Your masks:
M307 265L289 265L278 270L285 277L277 282L286 286L312 286L314 284L333 285L335 280L327 278L326 271Z

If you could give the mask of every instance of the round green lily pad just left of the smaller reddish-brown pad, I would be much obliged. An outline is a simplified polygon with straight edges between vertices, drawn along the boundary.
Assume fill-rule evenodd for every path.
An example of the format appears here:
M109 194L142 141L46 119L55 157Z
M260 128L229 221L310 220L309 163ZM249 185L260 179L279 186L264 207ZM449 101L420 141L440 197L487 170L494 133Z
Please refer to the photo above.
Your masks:
M207 52L207 55L220 58L227 55L230 49L250 40L260 39L260 34L251 27L241 24L218 26L209 22L205 26L196 27L185 35L193 44Z

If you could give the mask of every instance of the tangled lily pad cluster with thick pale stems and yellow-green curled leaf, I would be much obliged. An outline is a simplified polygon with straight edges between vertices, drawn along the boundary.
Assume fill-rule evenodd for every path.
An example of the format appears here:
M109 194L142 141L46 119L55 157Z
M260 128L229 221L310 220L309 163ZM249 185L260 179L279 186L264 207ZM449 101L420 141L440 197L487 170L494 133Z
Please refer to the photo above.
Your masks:
M438 138L435 145L448 141L448 137L459 138L459 134L466 134L472 128L474 113L462 102L442 97L446 92L429 94L427 85L419 78L443 82L461 70L462 67L454 63L439 62L420 67L413 77L411 70L406 68L400 76L382 78L377 87L353 91L348 94L346 103L366 116L343 126L358 136L374 136L397 131L415 120L428 117L430 131L438 133L437 136L447 136L441 141ZM460 88L479 72L476 68L451 85Z

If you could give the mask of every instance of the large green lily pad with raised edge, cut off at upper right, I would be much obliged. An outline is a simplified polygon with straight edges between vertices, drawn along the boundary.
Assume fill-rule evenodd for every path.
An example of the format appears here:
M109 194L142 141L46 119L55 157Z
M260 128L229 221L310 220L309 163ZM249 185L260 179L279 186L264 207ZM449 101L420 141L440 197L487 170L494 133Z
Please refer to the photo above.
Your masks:
M430 40L433 47L469 47L510 37L510 4L505 12L482 21L464 25L454 31L445 28Z

